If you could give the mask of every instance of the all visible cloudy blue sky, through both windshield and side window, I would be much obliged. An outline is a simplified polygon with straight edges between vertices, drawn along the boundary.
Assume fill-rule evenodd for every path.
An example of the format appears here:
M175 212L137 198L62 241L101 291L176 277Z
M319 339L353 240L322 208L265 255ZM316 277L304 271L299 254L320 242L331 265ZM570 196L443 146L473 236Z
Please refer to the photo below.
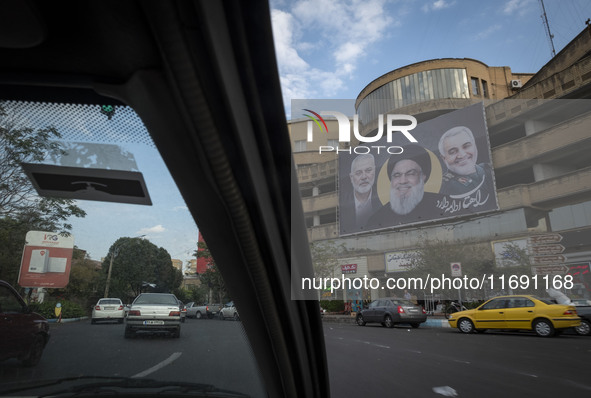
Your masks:
M544 3L558 52L585 27L591 1ZM475 58L535 72L551 55L538 0L272 0L271 8L288 117L291 99L355 99L372 80L414 62ZM81 201L88 215L72 220L76 245L99 260L119 237L145 235L173 258L193 258L197 226L160 156L129 151L153 206Z

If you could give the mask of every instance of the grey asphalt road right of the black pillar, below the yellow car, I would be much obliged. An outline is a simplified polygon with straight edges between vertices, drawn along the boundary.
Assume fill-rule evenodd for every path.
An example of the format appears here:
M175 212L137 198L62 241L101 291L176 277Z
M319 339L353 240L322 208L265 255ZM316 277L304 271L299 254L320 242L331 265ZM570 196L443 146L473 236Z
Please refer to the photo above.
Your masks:
M324 330L334 397L591 396L585 336L348 324Z

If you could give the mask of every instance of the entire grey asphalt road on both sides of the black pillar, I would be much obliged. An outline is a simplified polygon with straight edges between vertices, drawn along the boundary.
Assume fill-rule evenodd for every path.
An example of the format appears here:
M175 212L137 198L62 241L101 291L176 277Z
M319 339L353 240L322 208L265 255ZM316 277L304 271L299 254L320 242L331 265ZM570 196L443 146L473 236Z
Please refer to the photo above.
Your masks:
M264 396L241 322L187 319L179 339L124 339L123 331L124 325L90 321L52 324L39 365L2 362L0 383L124 376L207 383ZM589 337L464 335L455 329L332 323L324 325L324 333L333 397L591 395Z

